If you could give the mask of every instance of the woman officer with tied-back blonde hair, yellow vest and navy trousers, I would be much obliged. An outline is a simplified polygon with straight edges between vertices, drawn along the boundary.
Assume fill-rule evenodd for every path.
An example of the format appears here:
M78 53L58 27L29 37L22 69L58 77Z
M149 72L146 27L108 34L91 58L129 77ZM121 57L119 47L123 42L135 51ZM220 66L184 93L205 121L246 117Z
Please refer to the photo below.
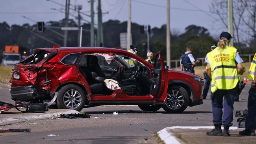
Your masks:
M229 46L231 39L230 33L222 32L218 47L207 55L207 74L211 78L211 106L215 128L206 135L230 136L228 129L232 126L233 104L238 97L238 76L243 72L243 60L237 49ZM222 124L224 125L223 133Z

